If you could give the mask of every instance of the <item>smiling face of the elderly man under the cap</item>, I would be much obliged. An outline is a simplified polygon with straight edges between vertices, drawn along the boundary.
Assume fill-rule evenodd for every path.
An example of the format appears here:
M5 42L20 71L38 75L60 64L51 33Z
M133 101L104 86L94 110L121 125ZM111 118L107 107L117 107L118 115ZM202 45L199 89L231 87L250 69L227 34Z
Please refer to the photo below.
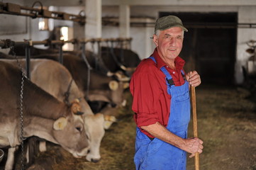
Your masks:
M153 40L157 52L163 60L174 60L182 51L184 31L180 27L160 30L160 35L154 35Z

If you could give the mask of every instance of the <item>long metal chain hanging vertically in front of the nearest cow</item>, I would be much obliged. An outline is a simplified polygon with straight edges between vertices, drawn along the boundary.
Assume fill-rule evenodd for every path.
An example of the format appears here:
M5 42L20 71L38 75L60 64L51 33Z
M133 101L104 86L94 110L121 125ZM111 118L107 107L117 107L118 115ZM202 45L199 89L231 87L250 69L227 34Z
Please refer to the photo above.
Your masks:
M20 123L21 123L21 170L24 169L24 157L23 157L23 152L24 152L24 142L23 140L26 140L26 138L23 137L23 87L24 87L24 78L26 77L26 74L21 67L21 63L18 61L18 57L16 56L16 53L13 50L13 46L10 47L12 55L16 58L16 61L18 63L18 67L21 69L21 96L20 96Z

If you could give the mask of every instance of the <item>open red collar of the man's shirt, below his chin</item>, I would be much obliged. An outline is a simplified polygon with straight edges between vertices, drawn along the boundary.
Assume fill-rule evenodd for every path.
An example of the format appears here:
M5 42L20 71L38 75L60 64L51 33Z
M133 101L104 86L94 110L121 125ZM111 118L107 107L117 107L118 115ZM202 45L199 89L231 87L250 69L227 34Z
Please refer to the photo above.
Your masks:
M155 57L158 69L161 69L163 66L167 66L167 64L162 60L162 58L158 54L157 48L155 48L155 50L151 56ZM177 70L180 70L184 67L185 61L181 57L179 57L179 56L176 57L174 62L175 62L175 66L176 66Z

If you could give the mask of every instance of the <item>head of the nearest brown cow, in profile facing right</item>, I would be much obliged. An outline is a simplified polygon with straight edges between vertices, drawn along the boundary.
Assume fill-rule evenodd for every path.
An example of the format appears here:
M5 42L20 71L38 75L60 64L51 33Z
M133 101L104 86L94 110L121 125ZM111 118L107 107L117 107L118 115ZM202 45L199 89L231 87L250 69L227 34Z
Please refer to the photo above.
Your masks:
M89 135L84 128L84 120L81 115L77 115L79 108L79 103L73 102L69 114L53 123L55 140L77 158L87 155L89 150Z

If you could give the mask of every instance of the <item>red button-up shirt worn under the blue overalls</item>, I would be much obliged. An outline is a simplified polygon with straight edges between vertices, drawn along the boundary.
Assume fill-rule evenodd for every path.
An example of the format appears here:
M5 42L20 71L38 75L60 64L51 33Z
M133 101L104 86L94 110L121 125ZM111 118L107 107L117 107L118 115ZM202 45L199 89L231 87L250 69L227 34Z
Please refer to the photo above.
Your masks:
M174 70L162 61L157 49L151 56L155 57L157 64L149 58L142 60L130 80L130 92L133 95L132 110L135 112L133 118L139 128L157 122L167 127L171 96L167 94L165 74L160 70L162 66L165 66L171 74L175 86L184 84L181 70L185 62L182 58L175 58L176 70ZM152 137L145 130L140 130Z

